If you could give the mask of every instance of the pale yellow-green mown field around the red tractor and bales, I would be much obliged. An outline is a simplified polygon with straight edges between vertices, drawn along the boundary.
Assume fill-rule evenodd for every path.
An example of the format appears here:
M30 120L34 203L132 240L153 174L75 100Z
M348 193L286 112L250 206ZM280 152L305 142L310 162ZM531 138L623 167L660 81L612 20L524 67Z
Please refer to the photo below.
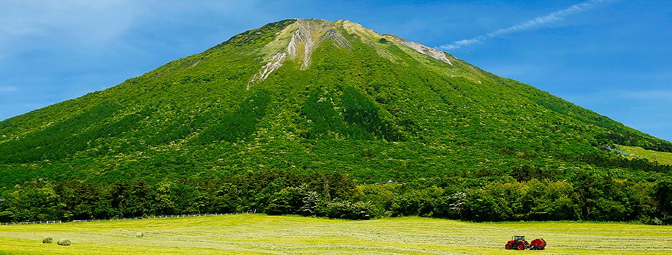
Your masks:
M136 237L143 232L144 236ZM544 251L504 250L512 234ZM56 242L68 238L71 246ZM346 221L223 215L0 226L7 254L672 254L672 227L627 223L470 223L420 217Z

